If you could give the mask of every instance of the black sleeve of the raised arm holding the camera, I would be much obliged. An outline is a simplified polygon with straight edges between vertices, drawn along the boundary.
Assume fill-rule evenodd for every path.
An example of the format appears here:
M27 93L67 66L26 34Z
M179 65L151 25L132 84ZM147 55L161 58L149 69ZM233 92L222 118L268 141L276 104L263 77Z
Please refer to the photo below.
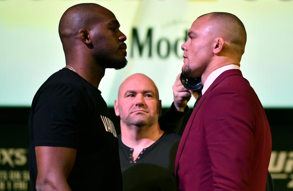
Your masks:
M170 133L178 134L180 127L182 125L182 121L184 116L189 113L188 106L185 107L184 112L177 111L174 106L174 102L171 107L162 114L159 118L160 128L163 131L168 131Z

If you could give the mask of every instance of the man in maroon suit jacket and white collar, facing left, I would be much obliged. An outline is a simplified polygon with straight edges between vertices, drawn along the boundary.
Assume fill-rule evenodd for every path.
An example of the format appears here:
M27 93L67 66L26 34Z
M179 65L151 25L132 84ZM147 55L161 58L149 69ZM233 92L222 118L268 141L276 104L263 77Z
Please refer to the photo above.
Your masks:
M230 13L205 14L188 37L182 73L201 76L203 90L178 147L178 188L265 190L272 139L262 104L239 69L243 23Z

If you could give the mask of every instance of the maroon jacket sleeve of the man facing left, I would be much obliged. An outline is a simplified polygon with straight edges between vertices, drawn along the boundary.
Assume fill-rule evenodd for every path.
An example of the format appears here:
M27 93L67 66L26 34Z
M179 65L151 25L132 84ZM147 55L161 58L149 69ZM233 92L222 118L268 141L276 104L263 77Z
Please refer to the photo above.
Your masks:
M211 190L249 190L254 153L251 104L233 90L211 92L207 103L212 122L205 128L211 159Z

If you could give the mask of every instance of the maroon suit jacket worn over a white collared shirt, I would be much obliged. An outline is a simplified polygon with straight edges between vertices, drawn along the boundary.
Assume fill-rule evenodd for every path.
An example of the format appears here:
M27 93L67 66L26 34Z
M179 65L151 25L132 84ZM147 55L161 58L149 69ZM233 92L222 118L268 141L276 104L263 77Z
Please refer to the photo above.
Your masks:
M265 190L272 149L265 111L241 71L224 71L182 135L175 178L183 191Z

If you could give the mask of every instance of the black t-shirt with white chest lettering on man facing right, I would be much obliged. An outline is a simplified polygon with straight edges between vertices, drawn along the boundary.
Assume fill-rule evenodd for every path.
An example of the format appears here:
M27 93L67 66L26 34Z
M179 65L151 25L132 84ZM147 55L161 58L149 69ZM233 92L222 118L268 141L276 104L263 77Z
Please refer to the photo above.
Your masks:
M35 190L35 146L77 150L68 177L72 190L122 190L118 141L100 90L63 68L37 91L29 118L31 188Z

